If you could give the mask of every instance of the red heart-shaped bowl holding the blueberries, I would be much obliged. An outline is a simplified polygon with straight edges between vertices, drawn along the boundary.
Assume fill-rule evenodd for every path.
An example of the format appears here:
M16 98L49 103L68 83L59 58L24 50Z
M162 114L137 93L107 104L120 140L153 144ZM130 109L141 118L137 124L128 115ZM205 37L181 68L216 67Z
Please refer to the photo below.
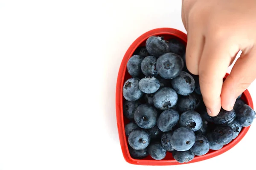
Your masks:
M125 101L123 95L122 95L122 87L124 82L129 79L131 76L129 75L126 64L128 62L128 59L133 55L135 49L139 46L145 46L145 41L148 37L152 35L158 35L158 36L164 36L165 39L169 39L172 37L175 37L179 40L181 40L185 45L187 43L187 37L186 34L173 29L173 28L157 28L153 29L151 31L146 32L145 34L141 35L137 40L135 40L131 46L128 48L128 50L125 53L125 56L122 59L122 63L119 68L118 78L117 78L117 84L116 84L116 121L117 121L117 128L119 133L119 140L122 148L122 153L125 158L125 160L130 164L139 164L139 165L177 165L178 163L173 157L172 153L167 152L166 157L162 160L154 160L150 156L146 157L145 159L133 159L128 150L128 138L125 136L125 125L129 122L128 119L126 119L123 116L123 102ZM227 78L228 74L224 77ZM241 96L241 99L244 100L244 102L249 105L251 108L253 108L253 101L250 96L249 91L244 91L244 93ZM192 161L189 161L188 163L183 164L189 164L193 162L203 161L205 159L210 159L212 157L218 156L227 150L230 150L232 147L234 147L241 139L244 137L244 135L249 130L249 127L243 127L241 132L239 133L239 136L236 137L236 139L232 140L229 144L224 145L221 150L209 150L209 152L203 156L195 156L195 158Z

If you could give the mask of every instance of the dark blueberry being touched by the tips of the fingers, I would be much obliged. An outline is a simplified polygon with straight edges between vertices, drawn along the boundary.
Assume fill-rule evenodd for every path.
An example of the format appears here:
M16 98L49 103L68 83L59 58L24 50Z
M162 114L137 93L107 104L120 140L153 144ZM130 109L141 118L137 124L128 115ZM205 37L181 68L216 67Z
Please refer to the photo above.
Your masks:
M225 111L223 108L221 108L221 111L218 113L217 116L212 117L212 121L216 125L227 125L233 122L233 120L235 119L236 119L236 112L234 110Z

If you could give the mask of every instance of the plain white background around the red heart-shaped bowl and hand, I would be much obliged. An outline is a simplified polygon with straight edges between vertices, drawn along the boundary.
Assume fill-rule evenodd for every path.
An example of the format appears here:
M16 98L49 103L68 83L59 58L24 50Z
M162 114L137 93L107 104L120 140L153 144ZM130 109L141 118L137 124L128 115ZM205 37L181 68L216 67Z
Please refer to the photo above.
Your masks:
M180 13L181 0L0 0L0 170L156 169L123 159L116 78L141 34L186 33ZM255 133L221 156L157 169L253 166Z

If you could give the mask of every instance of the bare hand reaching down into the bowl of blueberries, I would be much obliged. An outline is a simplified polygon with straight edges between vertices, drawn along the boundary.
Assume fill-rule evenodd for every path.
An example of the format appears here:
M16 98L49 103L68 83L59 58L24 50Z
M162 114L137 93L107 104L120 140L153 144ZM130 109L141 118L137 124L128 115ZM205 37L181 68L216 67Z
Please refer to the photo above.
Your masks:
M231 111L236 98L256 78L256 1L182 0L186 66L199 83L207 113ZM237 59L223 82L227 68Z

